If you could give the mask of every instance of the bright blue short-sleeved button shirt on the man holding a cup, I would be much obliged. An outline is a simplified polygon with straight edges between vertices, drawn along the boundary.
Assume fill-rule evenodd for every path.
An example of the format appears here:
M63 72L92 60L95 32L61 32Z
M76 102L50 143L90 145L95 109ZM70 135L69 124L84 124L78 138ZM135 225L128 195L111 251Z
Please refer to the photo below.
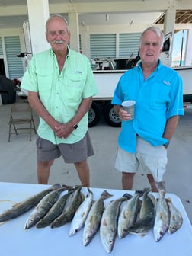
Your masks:
M112 104L136 101L134 119L122 121L118 138L119 146L136 152L136 134L152 146L163 145L165 125L170 117L184 115L183 82L178 72L163 66L159 61L155 72L144 80L141 62L120 78L114 91Z

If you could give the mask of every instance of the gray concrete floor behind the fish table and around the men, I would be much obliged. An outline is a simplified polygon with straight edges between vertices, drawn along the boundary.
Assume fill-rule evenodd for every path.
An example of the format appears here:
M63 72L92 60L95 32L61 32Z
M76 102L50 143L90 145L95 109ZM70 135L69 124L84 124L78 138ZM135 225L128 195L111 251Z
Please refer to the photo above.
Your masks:
M21 101L17 99L17 101ZM0 181L37 183L36 145L33 134L12 135L8 142L8 118L11 104L0 106ZM37 115L34 115L36 124ZM112 128L104 120L89 129L94 146L94 156L88 159L91 168L91 187L121 189L121 174L114 169L117 152L117 136L120 128ZM192 110L186 110L180 118L178 129L168 147L168 168L165 173L166 190L176 194L192 223ZM54 162L49 184L79 184L73 165L65 164L62 158ZM148 187L146 176L136 174L133 190Z

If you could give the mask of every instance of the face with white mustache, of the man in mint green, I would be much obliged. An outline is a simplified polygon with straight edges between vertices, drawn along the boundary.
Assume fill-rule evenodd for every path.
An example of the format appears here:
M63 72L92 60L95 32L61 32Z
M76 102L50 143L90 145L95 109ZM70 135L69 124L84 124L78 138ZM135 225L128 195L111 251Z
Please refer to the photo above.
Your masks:
M52 18L47 24L46 40L55 53L66 50L70 40L70 32L62 18Z

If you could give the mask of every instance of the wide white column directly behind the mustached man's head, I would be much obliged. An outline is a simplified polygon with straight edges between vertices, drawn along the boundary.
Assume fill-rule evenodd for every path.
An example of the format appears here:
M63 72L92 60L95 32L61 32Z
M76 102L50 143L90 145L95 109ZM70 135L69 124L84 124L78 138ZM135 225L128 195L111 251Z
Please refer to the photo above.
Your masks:
M32 53L38 53L50 48L46 42L46 20L50 16L48 0L27 0L27 10L30 25L30 41Z

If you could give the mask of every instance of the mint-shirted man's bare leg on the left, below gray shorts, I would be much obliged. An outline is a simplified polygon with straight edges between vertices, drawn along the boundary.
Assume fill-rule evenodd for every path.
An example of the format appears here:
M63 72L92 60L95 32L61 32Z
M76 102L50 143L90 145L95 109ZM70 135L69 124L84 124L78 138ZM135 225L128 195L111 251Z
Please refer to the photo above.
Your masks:
M50 167L54 160L46 162L37 162L37 179L39 184L48 184L50 177Z

